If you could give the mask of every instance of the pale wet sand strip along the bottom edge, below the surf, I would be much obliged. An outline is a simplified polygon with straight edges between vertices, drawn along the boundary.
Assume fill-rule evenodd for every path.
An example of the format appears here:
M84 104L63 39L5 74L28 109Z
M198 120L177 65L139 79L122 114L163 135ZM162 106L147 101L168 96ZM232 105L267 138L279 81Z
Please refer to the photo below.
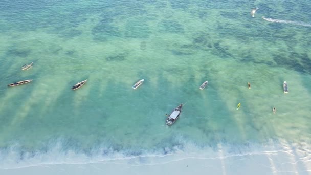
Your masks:
M309 161L292 160L285 152L225 159L185 158L163 164L135 165L131 160L87 164L51 164L0 169L1 174L283 174L311 172Z

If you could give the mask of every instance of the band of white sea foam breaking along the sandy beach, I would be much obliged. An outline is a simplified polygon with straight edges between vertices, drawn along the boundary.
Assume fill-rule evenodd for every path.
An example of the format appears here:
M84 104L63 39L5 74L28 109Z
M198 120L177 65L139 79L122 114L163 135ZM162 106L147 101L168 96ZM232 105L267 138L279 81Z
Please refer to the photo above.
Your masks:
M0 150L0 168L16 169L30 166L52 164L88 164L116 163L131 166L161 165L186 159L219 160L224 166L228 160L240 160L249 157L266 157L270 160L274 172L279 172L281 165L296 167L297 164L311 165L311 149L307 143L288 144L286 141L269 141L266 144L249 143L247 145L231 145L219 143L214 147L202 147L185 142L183 146L161 148L159 150L143 150L140 153L130 149L115 150L112 147L93 148L90 151L77 149L64 150L61 143L51 146L46 151L21 151L18 145ZM278 157L286 159L280 161ZM277 160L277 161L276 161ZM266 166L266 165L265 165ZM291 168L295 171L295 168ZM224 170L225 171L225 170Z

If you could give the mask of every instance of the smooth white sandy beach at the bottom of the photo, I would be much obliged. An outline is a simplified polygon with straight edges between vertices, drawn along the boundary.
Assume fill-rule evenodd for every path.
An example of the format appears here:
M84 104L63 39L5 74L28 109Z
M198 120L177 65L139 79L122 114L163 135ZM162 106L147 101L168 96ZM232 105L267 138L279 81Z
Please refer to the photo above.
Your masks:
M298 144L299 145L299 144ZM49 164L0 169L0 174L311 174L307 147L283 145L275 151L252 151L225 156L219 149L214 157L177 152L163 157L133 157L86 164ZM216 153L216 152L214 152ZM226 153L228 154L228 153Z

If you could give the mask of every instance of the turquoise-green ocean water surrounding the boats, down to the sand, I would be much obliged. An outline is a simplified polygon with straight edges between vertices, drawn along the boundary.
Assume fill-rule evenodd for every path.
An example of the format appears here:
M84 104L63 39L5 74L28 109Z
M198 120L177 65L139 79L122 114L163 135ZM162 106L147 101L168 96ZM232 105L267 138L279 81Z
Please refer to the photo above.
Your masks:
M307 0L1 1L0 168L219 147L309 159L310 19Z

